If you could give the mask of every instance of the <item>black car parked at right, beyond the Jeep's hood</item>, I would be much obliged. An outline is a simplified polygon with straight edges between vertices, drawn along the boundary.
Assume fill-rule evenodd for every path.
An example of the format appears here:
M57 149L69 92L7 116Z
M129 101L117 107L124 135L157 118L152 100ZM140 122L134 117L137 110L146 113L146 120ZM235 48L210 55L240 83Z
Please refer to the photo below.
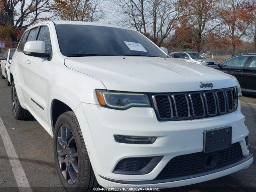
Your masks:
M210 66L235 76L242 91L256 95L256 54L243 54L232 57L218 65Z

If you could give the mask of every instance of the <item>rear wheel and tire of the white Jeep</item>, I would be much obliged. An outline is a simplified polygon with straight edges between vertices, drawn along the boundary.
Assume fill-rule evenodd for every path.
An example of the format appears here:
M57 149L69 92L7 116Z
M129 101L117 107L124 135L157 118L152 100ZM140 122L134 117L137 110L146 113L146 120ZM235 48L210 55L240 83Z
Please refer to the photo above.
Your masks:
M12 94L11 94L12 114L13 114L14 118L16 118L18 120L23 120L23 119L30 118L30 116L31 116L30 112L28 110L22 108L22 106L20 105L20 101L19 101L19 98L17 96L14 81L12 82L11 91L12 91Z

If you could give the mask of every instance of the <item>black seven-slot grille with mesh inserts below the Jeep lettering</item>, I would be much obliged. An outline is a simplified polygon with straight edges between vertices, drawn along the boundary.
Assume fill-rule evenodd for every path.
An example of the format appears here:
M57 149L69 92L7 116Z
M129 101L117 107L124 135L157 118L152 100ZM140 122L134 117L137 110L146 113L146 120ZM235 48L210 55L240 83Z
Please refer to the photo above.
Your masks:
M237 108L236 87L199 92L152 94L159 120L206 118L230 113Z

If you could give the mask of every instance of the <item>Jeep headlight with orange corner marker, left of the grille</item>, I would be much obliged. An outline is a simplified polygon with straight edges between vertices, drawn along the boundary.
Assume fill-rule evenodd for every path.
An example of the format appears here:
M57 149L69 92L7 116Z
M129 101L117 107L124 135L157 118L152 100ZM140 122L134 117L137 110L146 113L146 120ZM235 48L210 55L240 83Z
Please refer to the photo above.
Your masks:
M151 106L147 94L107 90L96 90L96 94L100 105L108 108L126 110L131 107Z

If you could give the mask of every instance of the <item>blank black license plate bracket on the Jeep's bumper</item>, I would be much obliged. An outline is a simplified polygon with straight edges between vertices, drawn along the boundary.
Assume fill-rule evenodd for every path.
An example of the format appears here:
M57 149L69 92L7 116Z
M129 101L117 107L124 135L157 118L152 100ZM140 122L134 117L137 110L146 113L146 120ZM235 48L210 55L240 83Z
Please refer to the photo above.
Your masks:
M204 153L231 147L232 127L226 126L204 131Z

